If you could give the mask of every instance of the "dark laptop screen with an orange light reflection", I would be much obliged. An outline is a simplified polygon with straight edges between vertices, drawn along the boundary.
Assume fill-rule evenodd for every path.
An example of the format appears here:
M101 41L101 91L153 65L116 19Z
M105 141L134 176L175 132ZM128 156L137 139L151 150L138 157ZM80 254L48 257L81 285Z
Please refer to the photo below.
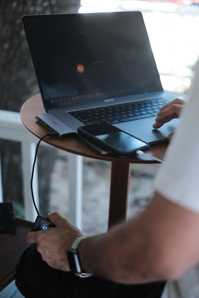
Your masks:
M140 12L22 21L46 109L162 90Z

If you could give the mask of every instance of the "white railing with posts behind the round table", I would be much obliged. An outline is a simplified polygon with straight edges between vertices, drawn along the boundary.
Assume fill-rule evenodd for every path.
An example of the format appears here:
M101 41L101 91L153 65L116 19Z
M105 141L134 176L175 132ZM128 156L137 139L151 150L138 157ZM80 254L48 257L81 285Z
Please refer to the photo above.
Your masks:
M31 221L36 219L36 210L32 202L30 179L33 160L38 138L30 133L21 122L18 112L0 110L0 139L21 142L22 175L25 218ZM41 142L42 146L50 146ZM81 229L82 214L82 167L83 158L67 153L69 163L69 220ZM35 164L33 192L36 205L39 206L37 163ZM3 201L1 163L0 163L0 202Z

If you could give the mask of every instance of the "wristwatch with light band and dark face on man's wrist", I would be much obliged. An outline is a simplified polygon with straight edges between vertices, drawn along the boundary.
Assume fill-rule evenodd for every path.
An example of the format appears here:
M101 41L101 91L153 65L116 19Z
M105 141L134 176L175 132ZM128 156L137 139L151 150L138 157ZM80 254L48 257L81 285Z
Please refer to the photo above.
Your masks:
M72 243L71 248L67 251L67 257L68 257L68 263L70 267L70 271L74 272L75 275L79 277L90 277L93 274L88 272L82 272L82 266L81 261L79 258L79 254L77 251L77 247L81 240L83 240L85 237L78 237L75 239L75 241Z

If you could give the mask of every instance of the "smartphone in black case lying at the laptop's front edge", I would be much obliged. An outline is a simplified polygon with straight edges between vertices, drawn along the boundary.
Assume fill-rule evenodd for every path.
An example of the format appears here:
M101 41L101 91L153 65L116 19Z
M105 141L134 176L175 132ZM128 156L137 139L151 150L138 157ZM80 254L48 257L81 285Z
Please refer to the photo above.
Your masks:
M77 132L120 157L129 157L137 150L149 148L148 143L104 122L80 126Z

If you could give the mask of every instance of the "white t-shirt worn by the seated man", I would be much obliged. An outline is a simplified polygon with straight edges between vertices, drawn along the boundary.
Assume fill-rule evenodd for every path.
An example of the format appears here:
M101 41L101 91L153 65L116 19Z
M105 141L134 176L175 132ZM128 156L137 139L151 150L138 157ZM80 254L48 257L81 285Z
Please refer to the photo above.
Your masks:
M199 60L182 120L156 175L155 190L199 212ZM199 264L178 281L166 283L161 298L199 298Z

